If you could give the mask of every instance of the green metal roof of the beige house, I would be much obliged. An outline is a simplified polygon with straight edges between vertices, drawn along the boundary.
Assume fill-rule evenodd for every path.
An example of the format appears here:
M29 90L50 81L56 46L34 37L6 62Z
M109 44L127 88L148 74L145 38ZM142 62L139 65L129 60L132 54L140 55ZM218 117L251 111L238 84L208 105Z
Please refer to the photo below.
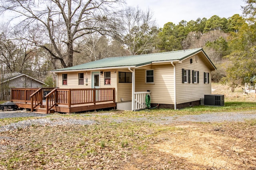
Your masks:
M135 67L137 67L137 66L150 64L150 63L156 62L156 61L183 60L183 59L186 59L187 57L190 57L191 55L193 55L195 53L198 53L199 51L203 51L202 48L180 50L180 51L170 51L170 52L165 52L165 53L133 55L133 56L126 56L126 57L111 57L111 58L105 58L105 59L101 59L101 60L97 60L97 61L92 61L89 63L84 63L84 64L68 67L68 68L52 70L52 72L58 72L58 71L64 71L64 70L85 70L85 69L94 69L94 68L109 68L109 67L119 67L119 66L135 66ZM207 55L206 55L206 57L207 57ZM210 61L210 59L209 59L209 61Z

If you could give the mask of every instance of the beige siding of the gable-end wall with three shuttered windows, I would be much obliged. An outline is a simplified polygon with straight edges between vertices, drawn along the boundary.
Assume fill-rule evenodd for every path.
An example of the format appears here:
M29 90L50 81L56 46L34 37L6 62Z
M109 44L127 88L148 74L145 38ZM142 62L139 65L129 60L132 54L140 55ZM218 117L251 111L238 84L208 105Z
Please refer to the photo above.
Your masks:
M193 63L190 64L190 59ZM182 68L190 70L190 83L182 83ZM192 83L192 70L199 71L199 83ZM209 84L204 84L204 72L209 73ZM176 64L176 103L182 104L204 98L204 94L211 94L211 76L210 68L206 66L200 55L198 61L195 60L195 55Z

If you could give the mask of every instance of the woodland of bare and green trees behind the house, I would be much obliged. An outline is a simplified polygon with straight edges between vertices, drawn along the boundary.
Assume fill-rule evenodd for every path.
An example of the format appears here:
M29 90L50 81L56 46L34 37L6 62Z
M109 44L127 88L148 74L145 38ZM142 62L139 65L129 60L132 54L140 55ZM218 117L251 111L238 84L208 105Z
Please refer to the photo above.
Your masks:
M150 10L122 0L0 0L0 72L20 72L52 85L50 70L106 57L203 48L217 66L214 82L238 84L256 75L256 3L246 0L243 16L212 16L156 26Z

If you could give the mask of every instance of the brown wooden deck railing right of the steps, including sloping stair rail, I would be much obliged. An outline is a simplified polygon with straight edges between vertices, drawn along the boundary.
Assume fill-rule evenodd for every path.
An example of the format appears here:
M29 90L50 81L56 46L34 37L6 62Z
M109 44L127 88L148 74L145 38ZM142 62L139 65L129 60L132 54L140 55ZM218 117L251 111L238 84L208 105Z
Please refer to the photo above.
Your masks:
M46 113L58 105L94 104L115 102L115 88L55 89L46 95Z

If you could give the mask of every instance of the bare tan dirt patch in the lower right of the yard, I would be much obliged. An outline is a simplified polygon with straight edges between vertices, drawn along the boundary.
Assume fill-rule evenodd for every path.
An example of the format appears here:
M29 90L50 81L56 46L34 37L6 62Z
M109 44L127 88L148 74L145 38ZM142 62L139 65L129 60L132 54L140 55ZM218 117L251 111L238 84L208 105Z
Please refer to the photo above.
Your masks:
M254 123L178 123L126 169L256 170Z

